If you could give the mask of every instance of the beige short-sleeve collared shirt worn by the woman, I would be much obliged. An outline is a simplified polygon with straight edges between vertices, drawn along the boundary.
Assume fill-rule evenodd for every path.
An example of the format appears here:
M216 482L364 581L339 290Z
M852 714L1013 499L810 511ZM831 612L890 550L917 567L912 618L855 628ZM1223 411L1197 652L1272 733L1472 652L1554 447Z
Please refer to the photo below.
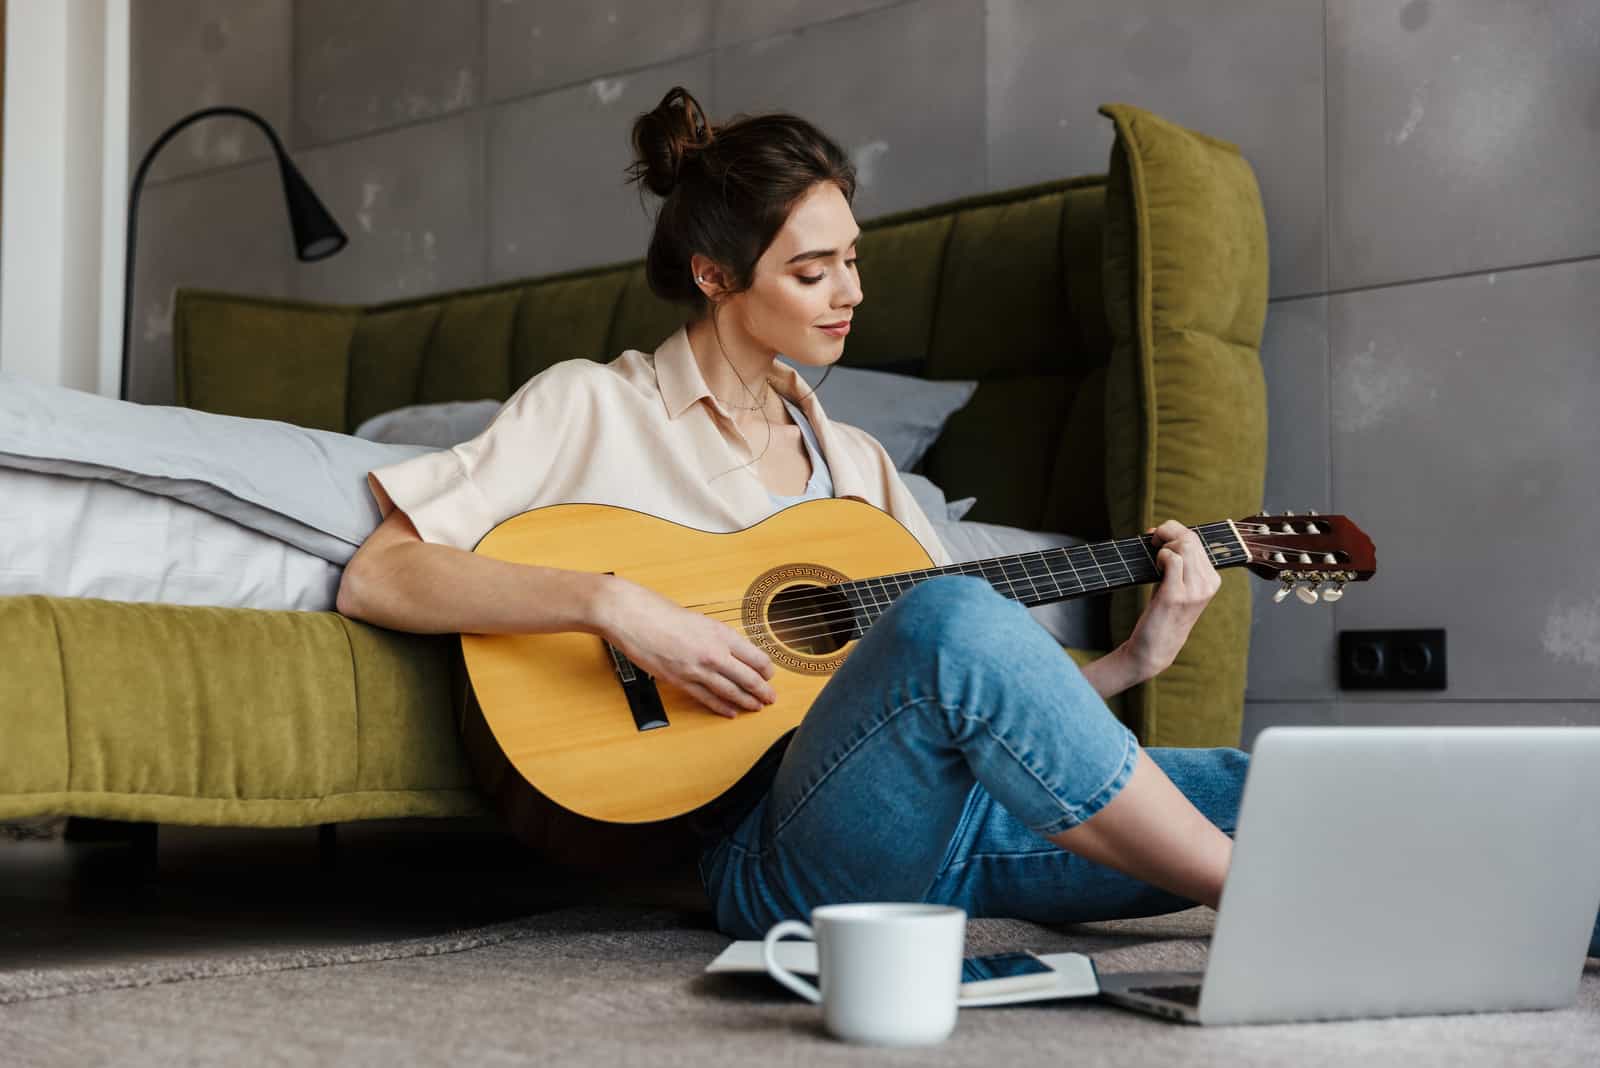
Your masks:
M774 365L779 393L816 433L835 497L894 516L952 563L894 462L866 430L832 422L800 374ZM678 328L654 353L565 360L528 379L470 441L368 473L384 516L402 508L422 540L470 550L504 520L549 504L610 504L706 531L739 531L774 512L749 460L762 448L734 425ZM386 499L387 497L387 499Z

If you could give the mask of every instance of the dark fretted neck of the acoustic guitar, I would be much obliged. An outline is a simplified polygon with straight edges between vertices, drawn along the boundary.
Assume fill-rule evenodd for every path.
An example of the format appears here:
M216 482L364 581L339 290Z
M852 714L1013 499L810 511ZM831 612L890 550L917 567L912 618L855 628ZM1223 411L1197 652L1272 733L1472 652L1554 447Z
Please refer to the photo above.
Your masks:
M1200 536L1200 544L1211 552L1211 563L1218 569L1240 568L1250 563L1250 550L1232 520L1202 523L1190 529ZM866 633L867 627L888 611L894 598L939 576L976 576L1013 601L1034 606L1160 582L1162 571L1155 566L1154 539L1142 536L970 560L947 568L872 576L840 582L834 588L850 598L861 616L861 632Z

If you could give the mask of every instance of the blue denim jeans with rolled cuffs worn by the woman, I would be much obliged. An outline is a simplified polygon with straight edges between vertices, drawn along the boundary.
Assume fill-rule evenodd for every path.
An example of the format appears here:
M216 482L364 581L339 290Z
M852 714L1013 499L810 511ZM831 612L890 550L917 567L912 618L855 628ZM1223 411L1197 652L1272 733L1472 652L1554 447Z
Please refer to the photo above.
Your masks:
M1038 923L1192 908L1045 838L1106 807L1138 753L1024 606L971 576L923 582L829 679L765 798L701 852L717 927L760 938L779 919L861 900ZM1248 753L1146 753L1234 836ZM1589 953L1600 956L1600 923Z

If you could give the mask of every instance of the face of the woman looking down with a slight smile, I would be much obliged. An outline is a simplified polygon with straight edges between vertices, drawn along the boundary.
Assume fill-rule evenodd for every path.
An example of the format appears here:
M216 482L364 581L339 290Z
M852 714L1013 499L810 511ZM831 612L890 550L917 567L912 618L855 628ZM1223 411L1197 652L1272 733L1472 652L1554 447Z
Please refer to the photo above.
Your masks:
M818 182L755 262L750 288L730 297L722 315L731 313L763 350L808 366L834 363L861 304L858 237L861 227L838 185ZM846 329L822 329L835 325Z

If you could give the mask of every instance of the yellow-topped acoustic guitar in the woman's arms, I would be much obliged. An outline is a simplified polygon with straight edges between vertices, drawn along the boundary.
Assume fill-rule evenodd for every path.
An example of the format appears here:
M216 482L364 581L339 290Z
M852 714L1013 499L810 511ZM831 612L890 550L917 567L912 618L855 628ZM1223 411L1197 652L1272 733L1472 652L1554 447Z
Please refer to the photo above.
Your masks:
M1216 568L1277 579L1282 601L1336 601L1376 572L1342 515L1256 515L1194 528ZM778 700L720 716L584 632L461 635L494 740L546 798L579 815L645 823L722 796L792 731L896 596L944 574L986 579L1022 604L1160 582L1152 536L934 568L886 512L805 500L755 526L707 532L643 512L557 504L514 515L474 552L616 574L726 622L771 657ZM1066 656L1066 654L1062 654Z

